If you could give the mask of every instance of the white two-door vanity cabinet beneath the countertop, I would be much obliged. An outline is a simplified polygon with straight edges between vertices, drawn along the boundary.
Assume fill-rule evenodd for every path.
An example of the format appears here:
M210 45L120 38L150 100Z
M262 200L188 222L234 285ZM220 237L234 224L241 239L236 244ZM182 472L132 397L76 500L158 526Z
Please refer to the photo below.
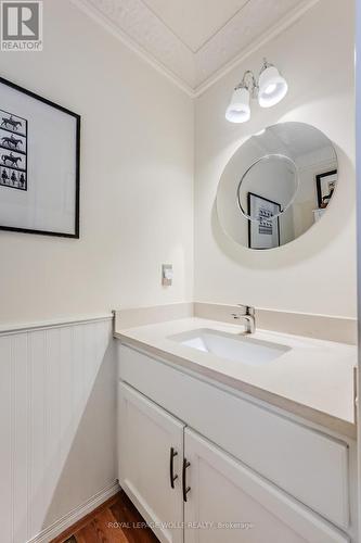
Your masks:
M127 345L118 387L119 482L162 542L356 543L347 443Z

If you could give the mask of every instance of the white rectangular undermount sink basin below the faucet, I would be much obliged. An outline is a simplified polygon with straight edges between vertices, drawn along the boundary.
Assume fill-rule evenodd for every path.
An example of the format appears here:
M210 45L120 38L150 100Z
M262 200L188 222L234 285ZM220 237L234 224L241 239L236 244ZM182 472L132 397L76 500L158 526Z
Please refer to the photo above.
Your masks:
M271 343L249 336L235 336L208 328L177 333L168 339L221 358L249 364L250 366L268 364L291 351L289 346L280 343Z

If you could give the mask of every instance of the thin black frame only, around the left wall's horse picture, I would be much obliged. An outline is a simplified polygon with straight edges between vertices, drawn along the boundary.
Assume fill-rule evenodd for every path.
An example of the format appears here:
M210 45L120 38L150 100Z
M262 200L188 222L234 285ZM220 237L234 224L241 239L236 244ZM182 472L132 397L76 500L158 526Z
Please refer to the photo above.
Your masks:
M0 230L14 231L14 232L21 232L21 233L35 233L35 235L40 235L40 236L55 236L55 237L60 237L60 238L79 239L79 237L80 237L80 226L79 226L79 223L80 223L80 124L81 124L80 115L68 110L67 108L64 108L63 105L60 105L60 104L40 96L40 94L37 94L36 92L33 92L31 90L25 89L24 87L21 87L20 85L16 85L15 83L12 83L3 77L0 77L0 85L5 85L7 87L10 87L11 89L13 89L17 92L21 92L29 98L38 100L39 102L43 103L44 105L47 105L49 108L53 108L55 110L61 111L62 113L65 113L66 115L70 115L72 117L74 117L75 118L75 161L76 161L76 164L75 164L74 232L37 230L37 229L31 229L31 228L14 227L14 226L1 225L1 224L0 224ZM1 103L0 103L0 110L2 110ZM2 111L4 111L4 110L2 110ZM26 140L26 142L27 142L27 140ZM28 152L27 148L26 148L26 151ZM0 186L0 188L1 188L1 186Z

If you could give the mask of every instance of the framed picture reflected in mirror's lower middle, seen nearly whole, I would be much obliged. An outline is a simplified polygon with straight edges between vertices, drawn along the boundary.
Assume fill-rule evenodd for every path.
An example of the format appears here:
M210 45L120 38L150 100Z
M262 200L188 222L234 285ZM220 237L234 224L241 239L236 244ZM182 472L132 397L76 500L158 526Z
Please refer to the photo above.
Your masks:
M272 218L281 212L281 205L272 200L248 192L248 247L272 249L280 247L280 220Z

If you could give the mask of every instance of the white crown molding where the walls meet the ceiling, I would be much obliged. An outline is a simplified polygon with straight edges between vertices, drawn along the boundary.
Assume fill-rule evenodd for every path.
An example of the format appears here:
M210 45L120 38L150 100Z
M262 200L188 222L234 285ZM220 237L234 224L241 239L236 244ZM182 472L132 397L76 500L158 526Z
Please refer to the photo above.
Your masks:
M320 0L304 0L299 5L291 10L286 15L280 18L280 21L272 25L261 37L254 39L246 48L244 48L238 54L236 54L232 60L227 62L223 66L216 70L209 77L206 77L204 81L199 85L194 85L193 87L189 85L182 77L176 74L172 70L166 66L163 62L156 59L156 56L142 47L136 39L131 38L125 30L123 30L114 21L106 16L102 11L100 11L93 2L94 0L70 0L74 5L86 13L94 22L101 24L104 29L111 33L114 37L119 39L126 47L141 56L147 64L155 68L158 73L166 76L173 85L180 88L191 98L201 97L207 89L215 85L218 80L224 77L228 73L238 66L248 56L259 50L261 47L266 46L270 40L282 34L291 25L293 25L298 18L300 18L305 13L307 13L311 8L313 8ZM109 2L111 5L112 2ZM143 23L143 22L142 22ZM141 28L140 28L141 29ZM159 38L159 28L157 28ZM162 39L159 38L159 43L162 45ZM175 62L180 64L180 52L173 55ZM209 54L209 53L208 53ZM189 70L190 66L188 65Z

